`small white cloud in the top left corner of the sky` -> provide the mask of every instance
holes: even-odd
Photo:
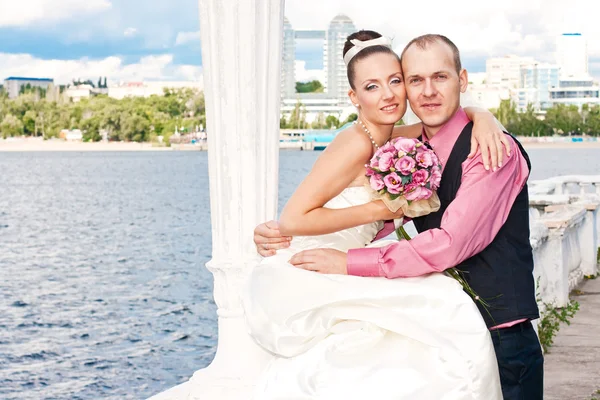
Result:
[[[0,0],[0,3],[0,27],[56,22],[100,13],[112,7],[110,0]]]

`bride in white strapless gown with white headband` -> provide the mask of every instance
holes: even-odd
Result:
[[[288,263],[305,249],[384,245],[371,244],[382,221],[402,217],[371,201],[365,178],[393,133],[421,133],[420,125],[394,130],[407,106],[399,58],[387,39],[360,31],[348,37],[344,61],[358,123],[337,135],[290,198],[279,229],[293,240],[262,249],[273,256],[250,272],[241,295],[251,336],[272,354],[254,399],[501,399],[490,333],[452,278],[322,275]],[[497,131],[489,112],[466,111],[480,137],[494,137],[481,136]]]

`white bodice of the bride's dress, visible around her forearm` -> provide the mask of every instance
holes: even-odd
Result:
[[[324,207],[340,209],[358,206],[371,201],[370,189],[366,186],[353,186],[344,189],[339,195],[327,202]],[[348,228],[343,231],[319,236],[298,236],[291,242],[290,250],[298,252],[307,249],[331,248],[340,251],[364,247],[371,243],[383,228],[383,222]]]

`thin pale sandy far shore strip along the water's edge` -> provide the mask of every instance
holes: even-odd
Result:
[[[532,149],[600,149],[600,141],[597,142],[537,142],[530,141],[530,138],[522,139],[525,148]],[[300,150],[298,146],[292,148],[286,143],[281,144],[282,149]],[[181,144],[171,147],[159,146],[155,143],[136,143],[136,142],[67,142],[65,140],[40,140],[40,139],[22,139],[22,140],[1,140],[0,152],[14,151],[179,151],[179,150],[207,150],[206,143],[202,144]]]

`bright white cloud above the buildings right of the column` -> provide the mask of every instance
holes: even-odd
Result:
[[[530,55],[554,61],[556,37],[580,32],[590,56],[600,56],[596,0],[287,0],[285,15],[294,29],[326,30],[337,14],[346,14],[357,29],[372,29],[394,38],[402,50],[413,37],[441,33],[463,56]],[[314,10],[319,12],[315,13]]]

